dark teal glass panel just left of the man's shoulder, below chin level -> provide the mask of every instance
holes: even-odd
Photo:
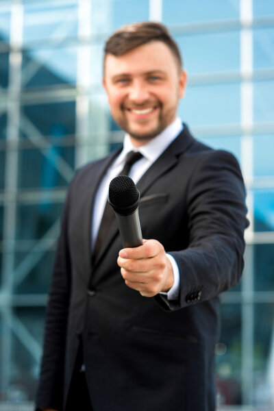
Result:
[[[74,153],[74,147],[56,145],[19,151],[18,188],[67,186],[74,174]]]

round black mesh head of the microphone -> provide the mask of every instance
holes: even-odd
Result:
[[[108,202],[122,216],[132,214],[140,199],[140,192],[128,175],[119,175],[110,182]]]

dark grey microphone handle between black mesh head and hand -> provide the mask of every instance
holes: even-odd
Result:
[[[138,208],[128,216],[122,216],[117,212],[114,213],[118,222],[123,248],[142,245],[142,230]]]

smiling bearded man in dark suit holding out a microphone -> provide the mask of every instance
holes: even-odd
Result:
[[[186,72],[163,25],[113,34],[103,86],[125,140],[79,170],[69,188],[37,407],[212,411],[218,295],[240,279],[245,248],[238,163],[177,119]],[[114,221],[97,250],[108,185],[129,151],[142,154],[129,176],[146,240],[121,249]]]

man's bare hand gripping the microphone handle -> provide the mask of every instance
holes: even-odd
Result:
[[[144,297],[154,297],[173,286],[171,262],[157,240],[144,240],[140,247],[121,250],[117,263],[125,284]]]

